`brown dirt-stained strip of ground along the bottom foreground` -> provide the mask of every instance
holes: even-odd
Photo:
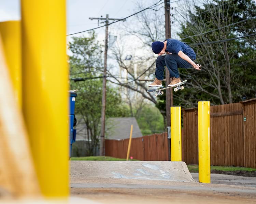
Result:
[[[118,188],[71,188],[71,195],[87,198],[100,203],[196,203],[236,204],[256,203],[248,194],[179,191],[169,189],[118,189]]]

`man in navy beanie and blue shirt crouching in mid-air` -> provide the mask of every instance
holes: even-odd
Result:
[[[155,41],[151,45],[152,50],[159,56],[156,59],[156,78],[155,81],[148,85],[151,87],[162,86],[163,71],[167,66],[170,72],[171,83],[168,86],[178,86],[181,84],[178,67],[191,68],[200,70],[201,65],[196,64],[196,53],[187,44],[180,40],[166,39],[163,42]],[[162,55],[165,54],[166,55]]]

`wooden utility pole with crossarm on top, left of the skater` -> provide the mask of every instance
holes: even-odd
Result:
[[[102,82],[102,101],[101,101],[101,129],[100,129],[100,156],[105,155],[105,112],[106,112],[106,68],[107,68],[107,52],[108,52],[108,29],[109,20],[122,20],[118,18],[109,18],[109,14],[106,18],[89,18],[90,20],[104,20],[106,25],[105,31],[105,51],[104,51],[104,70],[103,70],[103,82]],[[123,20],[125,21],[125,19]]]

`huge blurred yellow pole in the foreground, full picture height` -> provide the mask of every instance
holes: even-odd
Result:
[[[67,198],[68,66],[66,1],[22,0],[23,112],[39,184]]]

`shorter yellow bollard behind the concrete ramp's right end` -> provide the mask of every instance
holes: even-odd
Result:
[[[181,161],[181,107],[171,107],[171,161]]]

